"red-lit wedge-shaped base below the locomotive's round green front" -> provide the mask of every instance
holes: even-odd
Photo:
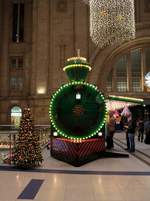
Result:
[[[74,166],[81,166],[91,160],[97,159],[99,153],[105,151],[104,137],[75,142],[65,138],[53,138],[51,155],[59,160]]]

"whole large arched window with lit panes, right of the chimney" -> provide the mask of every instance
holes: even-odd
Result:
[[[150,47],[129,50],[114,63],[107,77],[107,91],[142,92],[145,90],[144,75],[149,71]]]

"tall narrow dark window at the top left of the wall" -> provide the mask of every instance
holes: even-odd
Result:
[[[23,1],[13,1],[12,6],[12,41],[23,42],[24,40],[24,3]]]

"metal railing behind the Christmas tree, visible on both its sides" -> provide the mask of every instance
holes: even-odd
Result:
[[[43,149],[50,138],[49,125],[35,125],[34,132],[39,136]],[[19,129],[12,125],[0,125],[0,164],[11,164],[13,148],[16,144]]]

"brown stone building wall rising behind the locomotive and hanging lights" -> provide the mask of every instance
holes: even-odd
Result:
[[[97,48],[89,36],[89,8],[82,0],[25,0],[25,40],[12,43],[11,0],[0,1],[0,123],[10,123],[14,105],[32,109],[35,124],[49,124],[52,93],[67,82],[62,71],[65,60],[81,55],[92,64],[89,81],[105,90],[111,62],[123,49],[150,35],[149,1],[136,1],[137,40],[123,47]],[[140,41],[141,41],[140,40]],[[143,43],[145,43],[143,41]],[[24,90],[9,93],[9,57],[24,57]],[[104,70],[105,69],[105,70]],[[131,94],[132,95],[132,94]]]

